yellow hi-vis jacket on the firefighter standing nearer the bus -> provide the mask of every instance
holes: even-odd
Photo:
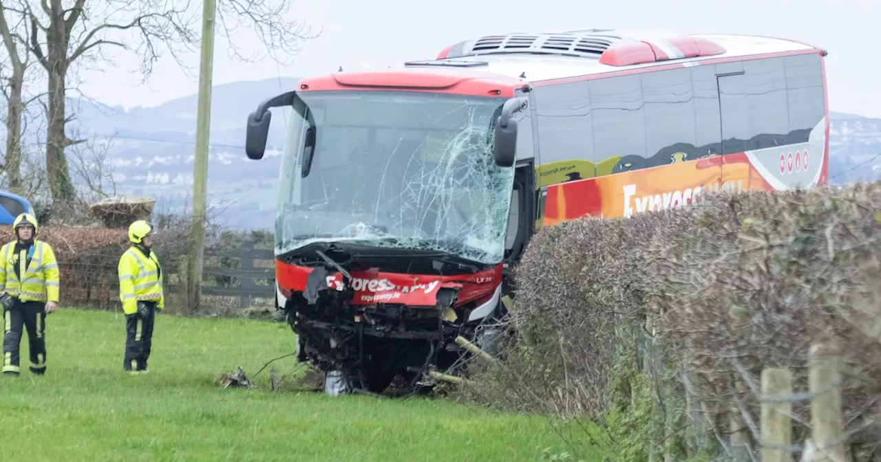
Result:
[[[119,298],[125,314],[137,312],[138,300],[156,302],[160,310],[165,307],[161,268],[155,252],[147,257],[131,246],[122,253],[119,258]]]

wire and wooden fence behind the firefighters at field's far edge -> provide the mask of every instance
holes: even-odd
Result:
[[[160,230],[153,251],[159,258],[167,312],[194,315],[233,315],[272,312],[275,264],[271,235],[223,231],[206,239],[202,300],[197,312],[187,304],[189,230]],[[0,238],[5,238],[0,233]],[[63,306],[121,310],[118,263],[128,248],[125,230],[71,228],[41,230],[53,246],[61,274]],[[5,241],[11,241],[9,238]]]

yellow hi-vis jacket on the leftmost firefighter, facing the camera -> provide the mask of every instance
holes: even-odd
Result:
[[[34,239],[30,249],[15,254],[16,242],[8,242],[0,247],[0,258],[3,258],[0,290],[19,297],[22,302],[58,303],[58,262],[52,246]],[[28,253],[31,253],[31,262],[25,268]],[[20,279],[15,274],[16,265],[19,266]]]

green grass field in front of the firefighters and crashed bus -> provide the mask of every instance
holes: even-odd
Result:
[[[122,372],[122,313],[48,315],[48,372],[0,376],[0,460],[541,460],[570,451],[544,417],[442,400],[223,389],[223,371],[254,375],[294,351],[284,324],[159,315],[151,372]],[[273,363],[290,374],[288,357]],[[600,460],[581,454],[581,458]]]

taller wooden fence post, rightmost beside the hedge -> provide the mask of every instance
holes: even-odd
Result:
[[[841,392],[838,346],[835,343],[814,343],[808,354],[811,387],[811,439],[817,446],[815,462],[848,460],[841,423]]]

